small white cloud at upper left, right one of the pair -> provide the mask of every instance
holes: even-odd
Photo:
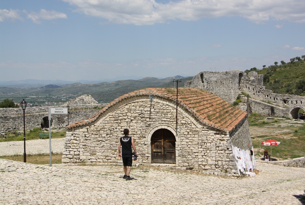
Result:
[[[39,13],[31,12],[27,15],[27,18],[32,19],[34,23],[40,23],[39,19],[66,19],[67,15],[56,11],[47,11],[45,9],[41,9]]]

